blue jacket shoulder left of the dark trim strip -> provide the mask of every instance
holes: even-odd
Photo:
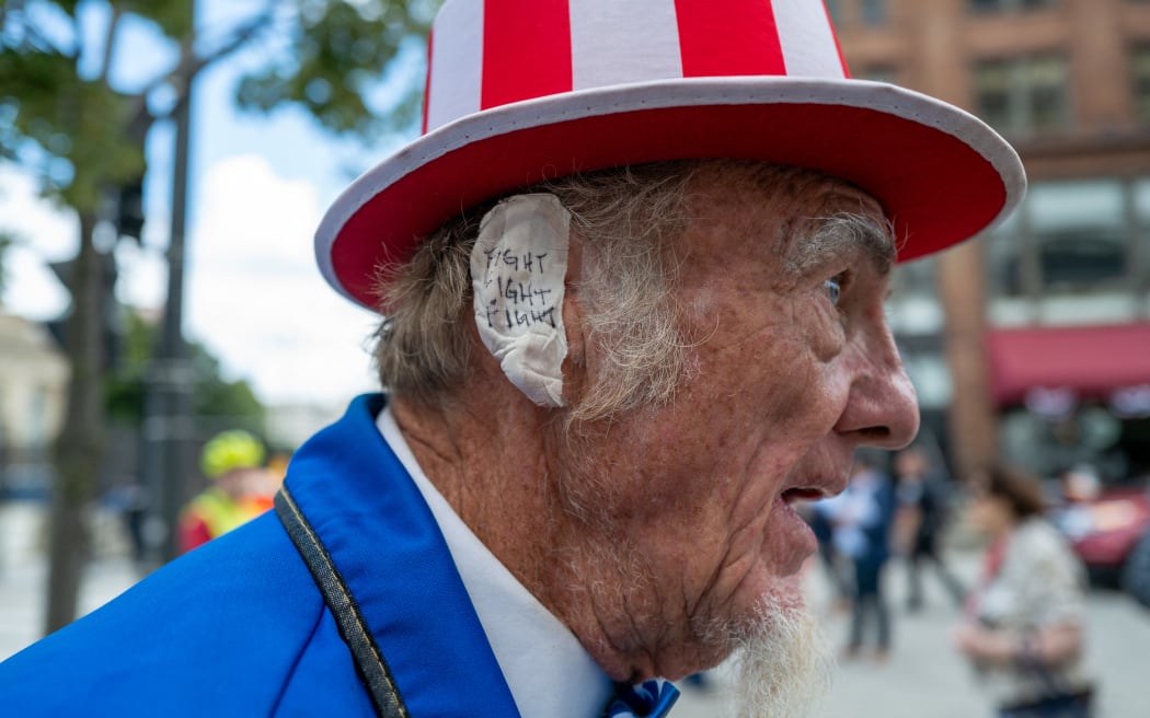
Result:
[[[24,717],[307,715],[308,686],[322,681],[325,711],[370,715],[346,654],[268,514],[0,664],[0,705]]]

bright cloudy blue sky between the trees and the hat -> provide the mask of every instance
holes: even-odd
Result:
[[[343,404],[374,387],[365,347],[375,319],[320,277],[312,234],[353,173],[406,138],[362,147],[325,137],[292,110],[237,114],[231,87],[245,62],[254,61],[237,56],[206,72],[195,88],[185,331],[222,360],[229,378],[250,380],[266,403]],[[143,308],[162,306],[166,295],[170,146],[170,132],[153,131],[144,249],[120,250],[117,293]],[[68,298],[46,263],[75,255],[75,219],[37,199],[29,177],[0,164],[0,229],[23,240],[5,258],[3,310],[54,318]]]

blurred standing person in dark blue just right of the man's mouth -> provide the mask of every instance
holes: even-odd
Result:
[[[874,657],[890,654],[890,607],[883,594],[883,569],[890,558],[895,522],[895,489],[879,468],[877,457],[858,451],[850,485],[833,500],[834,542],[854,568],[851,594],[851,628],[845,657],[858,656],[867,626],[874,624]]]

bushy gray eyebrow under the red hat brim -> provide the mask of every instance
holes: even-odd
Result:
[[[837,213],[816,217],[805,237],[790,241],[785,253],[787,271],[805,275],[825,263],[828,257],[862,254],[881,277],[890,273],[897,257],[894,229],[889,222],[858,213]]]

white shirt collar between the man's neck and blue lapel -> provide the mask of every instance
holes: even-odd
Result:
[[[611,697],[611,679],[578,639],[519,582],[423,473],[391,412],[376,426],[415,479],[447,542],[491,650],[523,718],[590,718]]]

